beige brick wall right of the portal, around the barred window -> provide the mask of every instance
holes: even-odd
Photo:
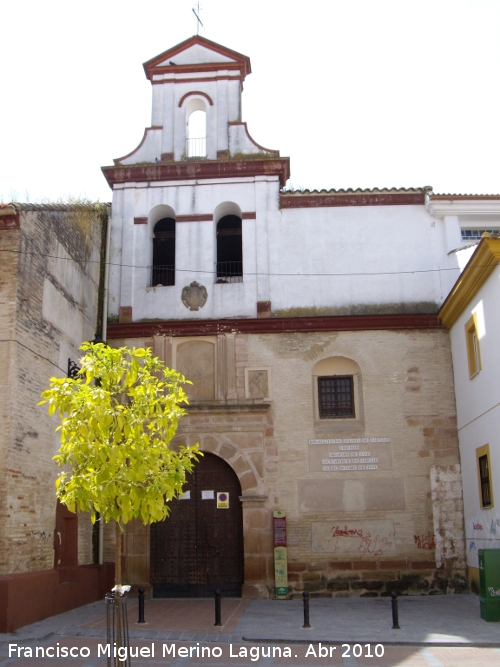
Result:
[[[248,364],[272,368],[278,462],[273,501],[287,515],[291,594],[463,591],[463,509],[447,332],[292,333],[254,335],[247,342]],[[339,356],[360,368],[356,417],[363,427],[350,430],[349,420],[331,420],[328,433],[329,420],[320,424],[314,414],[313,370],[319,361]],[[318,463],[342,446],[310,444],[326,440],[360,442],[376,454],[379,469],[322,470]]]

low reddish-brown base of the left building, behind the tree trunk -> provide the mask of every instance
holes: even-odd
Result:
[[[114,563],[0,577],[0,632],[103,599],[114,585]]]

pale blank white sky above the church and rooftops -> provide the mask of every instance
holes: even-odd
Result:
[[[243,120],[295,188],[500,193],[500,0],[200,0],[250,57]],[[111,201],[151,120],[142,63],[194,0],[0,0],[0,201]]]

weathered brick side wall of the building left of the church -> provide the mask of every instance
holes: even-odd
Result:
[[[57,422],[37,403],[49,378],[66,375],[68,357],[77,359],[81,342],[94,337],[102,219],[93,207],[28,207],[18,233],[17,275],[8,276],[16,296],[9,311],[11,429],[2,462],[0,574],[53,566]],[[2,276],[4,270],[2,258]],[[3,322],[5,304],[0,308]],[[90,562],[88,546],[80,555]]]

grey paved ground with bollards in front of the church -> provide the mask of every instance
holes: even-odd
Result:
[[[213,600],[147,600],[146,623],[137,616],[131,600],[134,667],[500,667],[500,623],[480,618],[473,595],[402,597],[400,630],[392,629],[391,601],[381,598],[313,598],[309,629],[301,600],[223,599],[220,628]],[[106,650],[99,602],[0,634],[0,667],[100,667]]]

